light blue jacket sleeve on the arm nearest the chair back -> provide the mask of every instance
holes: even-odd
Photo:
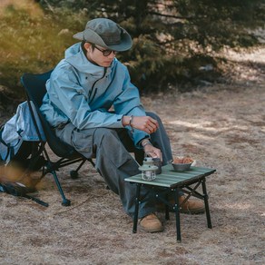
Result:
[[[92,110],[87,94],[71,69],[54,71],[47,84],[50,103],[80,130],[96,127],[122,128],[123,114]]]

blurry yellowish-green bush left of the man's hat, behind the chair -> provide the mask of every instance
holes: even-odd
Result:
[[[23,73],[44,72],[62,59],[86,18],[82,12],[31,15],[26,9],[6,7],[0,25],[0,83],[10,88],[10,96],[24,97],[19,81]]]

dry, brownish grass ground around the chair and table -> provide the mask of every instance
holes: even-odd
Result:
[[[205,215],[181,215],[161,233],[132,233],[119,198],[89,163],[72,180],[58,172],[70,207],[47,176],[37,197],[0,194],[0,264],[264,264],[265,50],[228,56],[234,82],[191,93],[142,98],[158,113],[175,155],[217,170],[207,179],[212,229]],[[231,74],[231,73],[230,73]]]

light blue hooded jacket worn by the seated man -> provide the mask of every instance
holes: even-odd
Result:
[[[92,64],[83,54],[81,43],[65,51],[46,89],[41,111],[54,127],[70,122],[79,130],[123,128],[123,115],[146,115],[126,66],[116,58],[107,68]],[[111,107],[113,113],[109,112]],[[147,136],[139,130],[131,134],[135,146]]]

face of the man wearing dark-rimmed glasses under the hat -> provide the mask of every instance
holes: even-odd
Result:
[[[113,59],[116,56],[114,51],[106,50],[105,48],[98,45],[92,47],[91,44],[86,43],[84,44],[84,48],[87,51],[86,53],[87,59],[92,63],[98,64],[102,67],[111,66],[111,64],[113,63]]]

